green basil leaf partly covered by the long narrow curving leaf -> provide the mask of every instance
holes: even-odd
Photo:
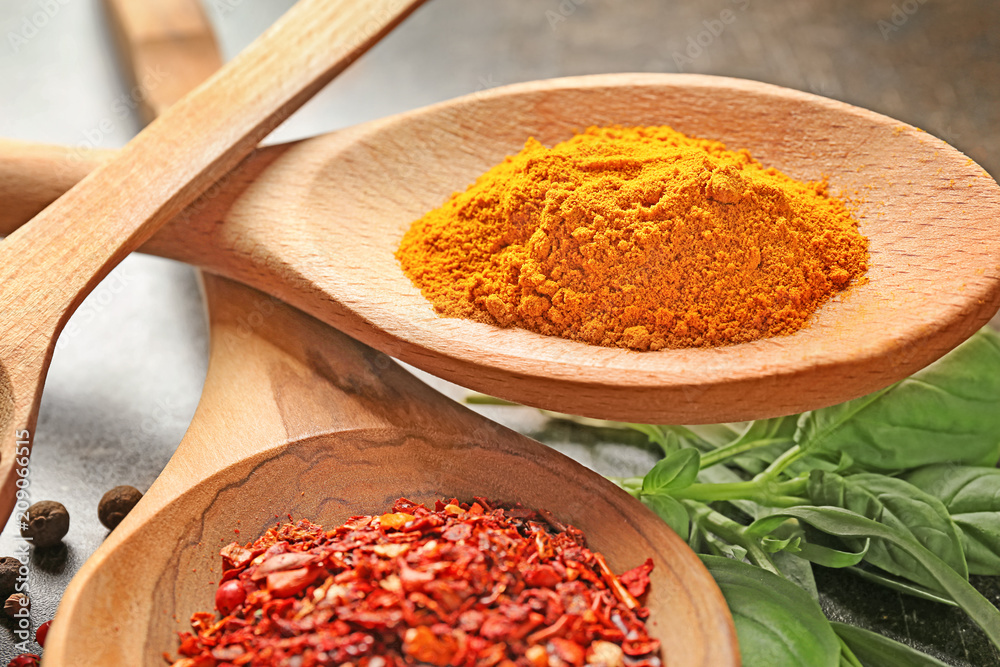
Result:
[[[809,475],[807,493],[817,505],[843,507],[910,535],[963,578],[969,577],[962,537],[948,510],[940,500],[912,484],[874,473],[841,477],[816,470]],[[848,540],[848,544],[861,548],[857,540]],[[908,550],[892,542],[874,540],[865,560],[916,583],[934,584],[933,576]]]

